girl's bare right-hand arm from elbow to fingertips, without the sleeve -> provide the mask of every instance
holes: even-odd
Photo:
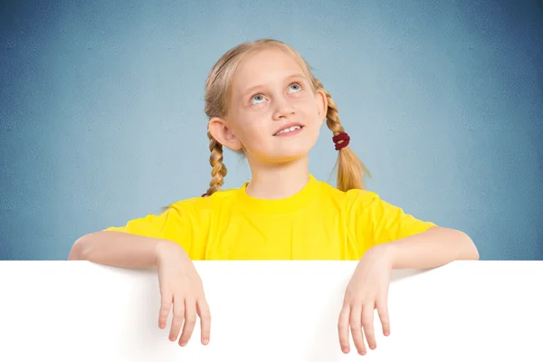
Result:
[[[348,283],[343,308],[339,314],[339,343],[348,353],[348,329],[358,353],[366,354],[364,335],[369,348],[376,348],[374,310],[377,310],[385,336],[390,334],[388,319],[388,285],[393,269],[427,269],[455,260],[477,260],[479,252],[472,239],[457,230],[432,226],[369,248],[358,262]],[[364,330],[364,334],[362,333]]]

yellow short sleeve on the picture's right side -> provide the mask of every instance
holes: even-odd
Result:
[[[429,221],[419,220],[406,214],[398,206],[382,200],[371,191],[357,190],[352,199],[351,221],[357,240],[368,249],[379,243],[388,243],[416,233],[423,233],[433,226]]]

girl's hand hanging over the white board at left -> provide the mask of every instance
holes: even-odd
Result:
[[[166,328],[167,316],[173,303],[174,317],[169,340],[176,341],[183,326],[179,346],[186,346],[195,328],[197,313],[201,321],[201,342],[206,345],[209,343],[211,315],[205,300],[202,280],[180,245],[166,242],[158,249],[157,268],[161,296],[158,327]]]

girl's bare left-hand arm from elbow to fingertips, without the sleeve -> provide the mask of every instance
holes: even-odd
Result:
[[[211,315],[203,283],[184,248],[172,241],[138,234],[101,231],[76,241],[68,260],[87,260],[126,268],[157,267],[160,291],[158,327],[166,329],[173,312],[169,340],[185,346],[193,333],[196,315],[201,319],[201,340],[209,342]]]

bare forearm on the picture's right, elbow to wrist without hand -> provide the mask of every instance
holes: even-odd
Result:
[[[381,245],[386,247],[393,269],[426,269],[456,260],[479,259],[467,234],[443,227]]]

